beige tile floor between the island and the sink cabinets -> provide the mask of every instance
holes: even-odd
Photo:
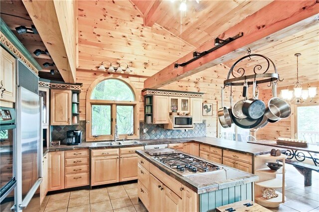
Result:
[[[41,212],[147,212],[137,183],[47,195]]]

